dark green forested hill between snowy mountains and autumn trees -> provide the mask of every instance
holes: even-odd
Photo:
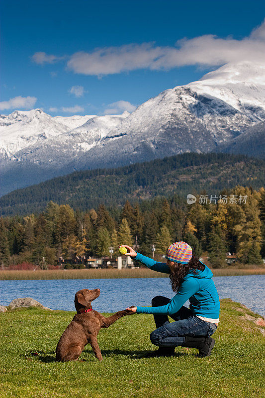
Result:
[[[265,161],[245,155],[185,153],[116,169],[75,172],[11,192],[0,198],[0,215],[29,214],[50,200],[87,210],[99,204],[123,205],[156,196],[205,191],[216,195],[237,185],[265,185]]]

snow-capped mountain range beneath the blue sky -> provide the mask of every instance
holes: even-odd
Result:
[[[237,137],[248,129],[255,135],[264,121],[265,65],[251,62],[227,64],[166,90],[131,114],[14,111],[0,116],[1,193],[74,170],[229,147],[245,142]]]

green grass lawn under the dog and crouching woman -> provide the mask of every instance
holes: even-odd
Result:
[[[239,308],[239,309],[237,309]],[[239,303],[221,300],[212,355],[176,348],[171,358],[148,358],[152,315],[131,315],[101,329],[103,361],[90,346],[86,362],[55,362],[57,342],[74,312],[16,309],[0,313],[0,397],[208,398],[264,396],[264,336]],[[256,314],[257,316],[257,314]],[[38,352],[32,356],[31,352]]]

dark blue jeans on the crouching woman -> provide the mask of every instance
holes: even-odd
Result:
[[[156,296],[152,299],[152,307],[167,305],[170,299]],[[193,315],[191,310],[182,306],[176,314],[171,315],[175,322],[169,321],[167,314],[154,314],[157,329],[150,334],[150,340],[159,347],[177,347],[185,341],[185,336],[210,337],[217,326]]]

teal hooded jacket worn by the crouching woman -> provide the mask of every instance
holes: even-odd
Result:
[[[149,257],[137,253],[135,260],[140,261],[151,270],[170,274],[170,269],[165,263],[159,263]],[[189,308],[194,315],[205,318],[219,318],[220,301],[219,296],[212,280],[212,271],[204,265],[203,271],[196,270],[189,272],[184,278],[178,289],[177,294],[167,305],[160,307],[137,307],[137,313],[146,314],[175,314],[182,305],[189,299]]]

